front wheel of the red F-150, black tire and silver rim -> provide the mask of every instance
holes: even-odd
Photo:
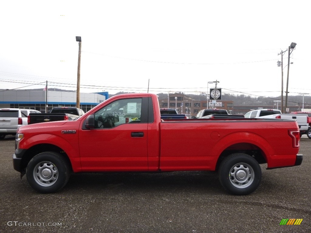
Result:
[[[55,152],[43,152],[32,158],[27,166],[26,177],[30,186],[40,193],[61,190],[70,176],[66,160]]]

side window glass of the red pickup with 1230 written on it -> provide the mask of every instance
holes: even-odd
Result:
[[[95,128],[107,129],[127,123],[140,123],[142,98],[119,99],[95,112]]]

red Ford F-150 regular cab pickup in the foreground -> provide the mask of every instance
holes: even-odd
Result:
[[[62,189],[71,172],[205,170],[218,171],[229,193],[245,195],[259,186],[259,164],[300,165],[299,141],[295,120],[163,120],[155,94],[122,94],[75,121],[22,126],[13,166],[41,193]]]

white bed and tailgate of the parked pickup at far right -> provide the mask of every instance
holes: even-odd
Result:
[[[286,119],[286,120],[296,120],[300,129],[300,137],[303,134],[306,134],[309,129],[309,117],[308,115],[300,115],[300,114],[273,114],[263,117],[256,118],[275,118],[275,119]]]

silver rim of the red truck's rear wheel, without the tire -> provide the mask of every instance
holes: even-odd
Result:
[[[237,163],[231,167],[229,178],[236,188],[246,188],[254,181],[254,170],[247,163]]]

